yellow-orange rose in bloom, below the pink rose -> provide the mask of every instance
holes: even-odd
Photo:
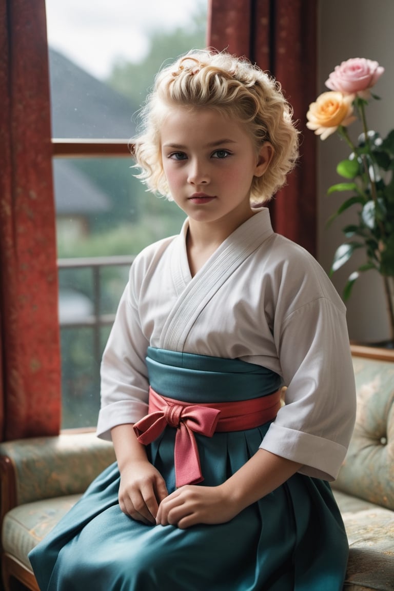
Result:
[[[328,138],[338,129],[347,127],[356,121],[353,116],[354,95],[343,95],[341,92],[323,92],[315,103],[311,103],[307,112],[307,128],[312,129],[321,139]]]

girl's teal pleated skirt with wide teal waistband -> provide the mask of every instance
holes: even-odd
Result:
[[[246,400],[280,387],[278,375],[238,360],[148,349],[152,388],[188,402]],[[204,481],[216,486],[256,453],[269,424],[196,435]],[[175,489],[175,429],[148,446]],[[220,525],[144,525],[118,504],[109,466],[29,558],[41,591],[341,591],[348,543],[330,485],[295,474]]]

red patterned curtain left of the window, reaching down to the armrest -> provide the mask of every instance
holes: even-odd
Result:
[[[60,428],[44,0],[2,0],[0,44],[0,437],[10,440]]]

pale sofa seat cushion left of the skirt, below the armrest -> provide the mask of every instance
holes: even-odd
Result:
[[[8,511],[2,527],[3,550],[31,568],[28,553],[48,534],[81,495],[61,496],[19,505]]]

